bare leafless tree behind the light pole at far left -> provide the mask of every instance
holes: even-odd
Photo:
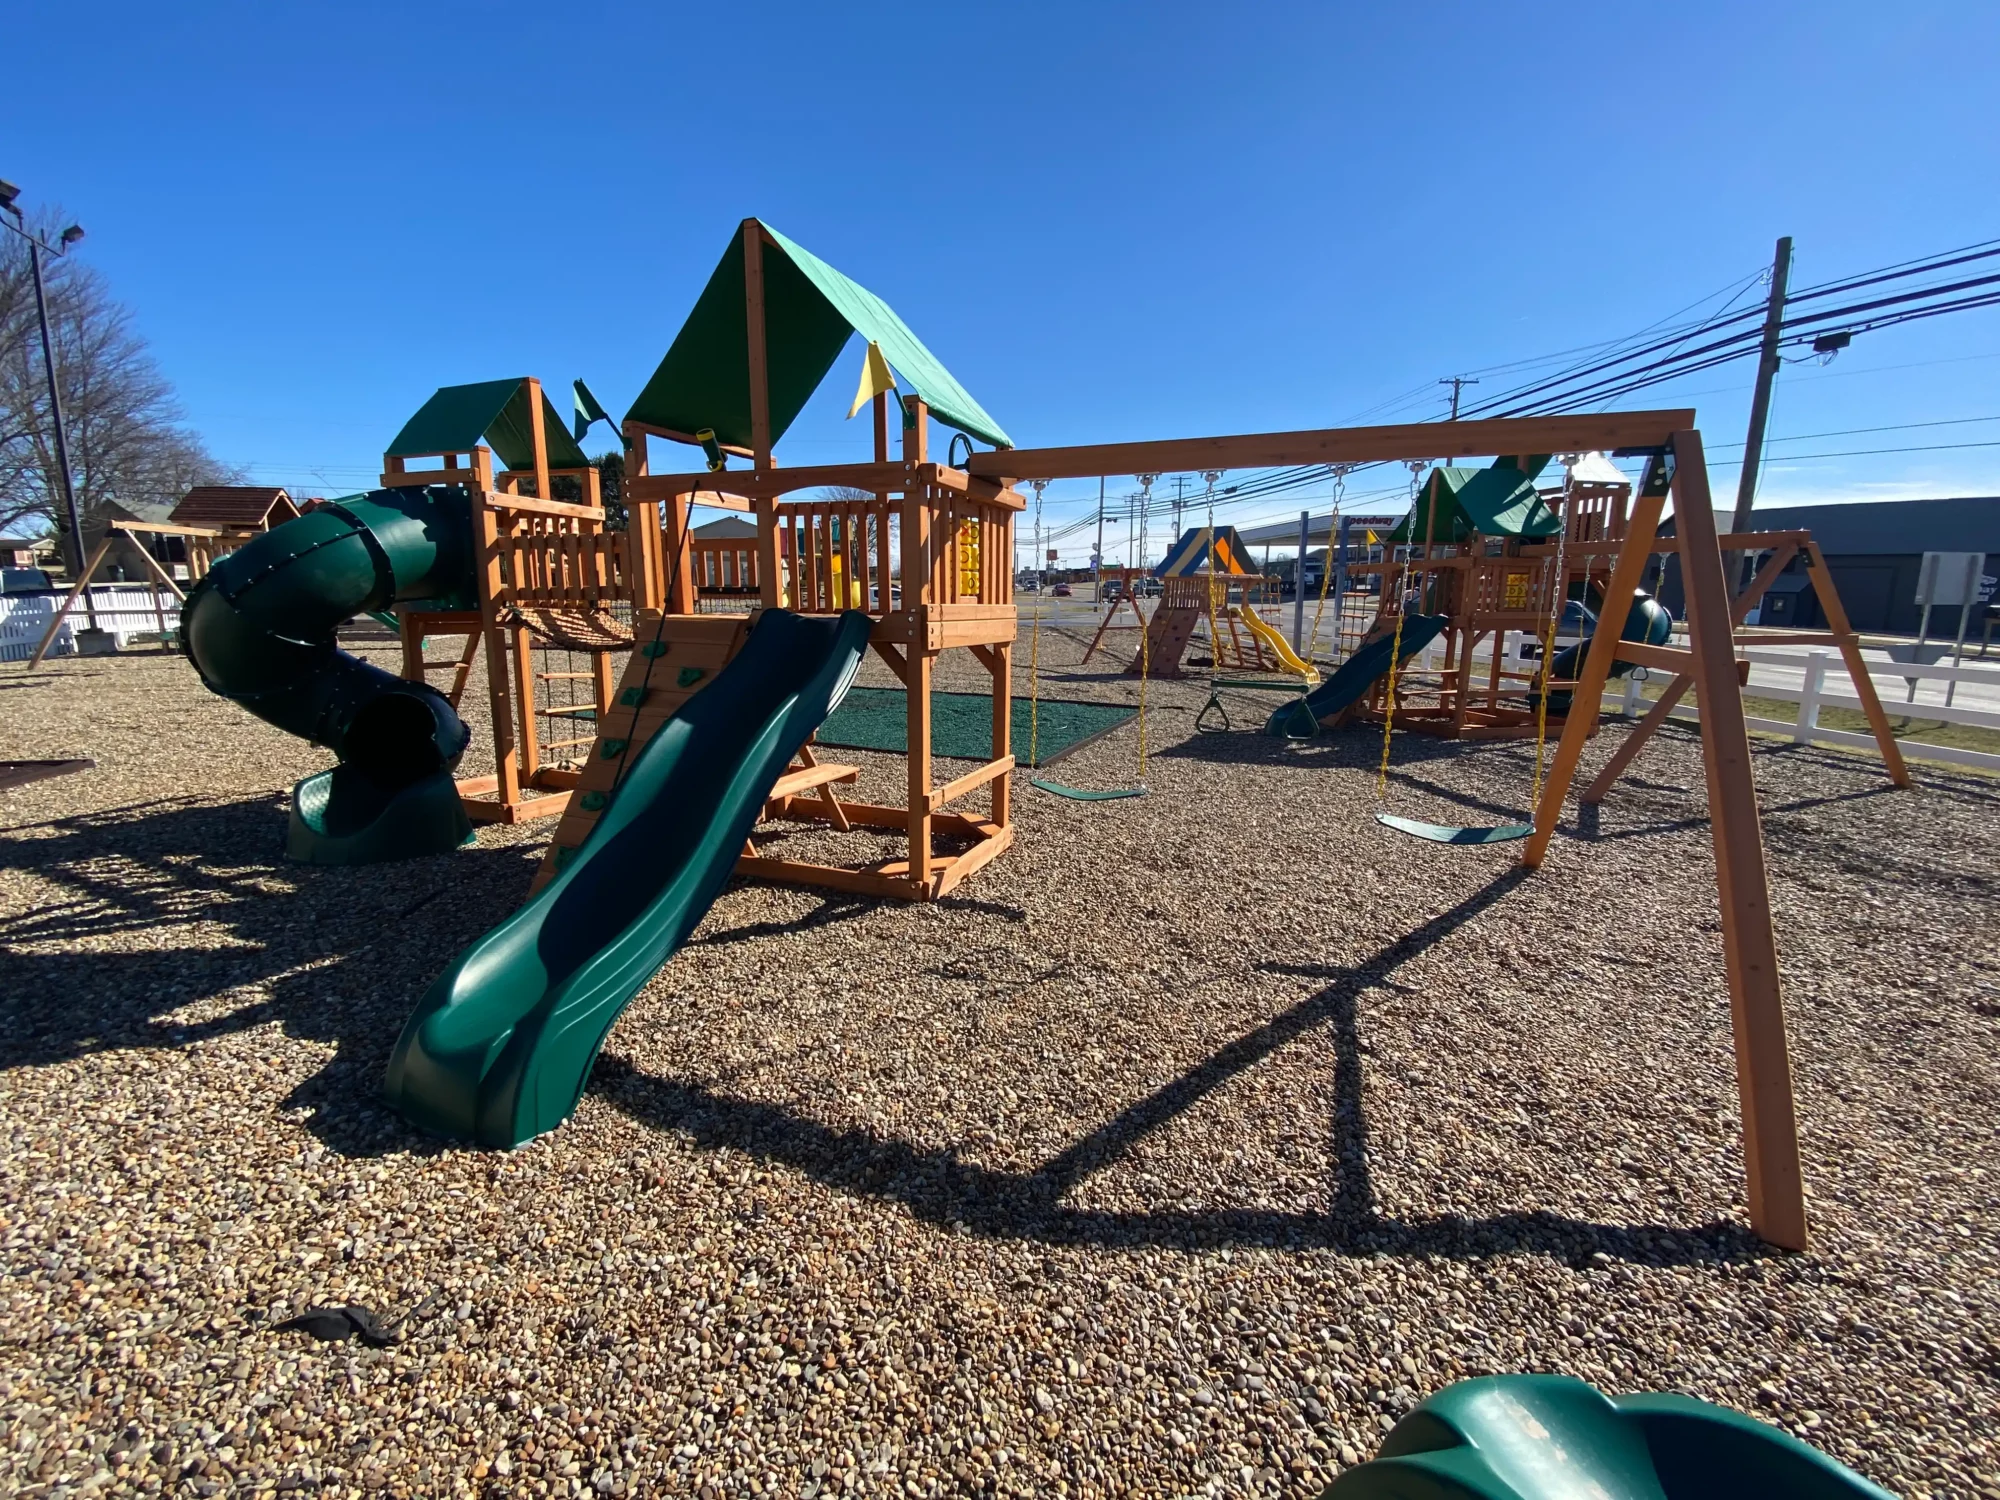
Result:
[[[54,242],[60,216],[28,228]],[[70,256],[42,256],[56,384],[70,438],[70,478],[88,526],[106,502],[174,504],[196,484],[240,484],[246,476],[214,458],[184,426],[132,312],[104,278]],[[62,530],[56,426],[42,370],[28,244],[0,234],[0,532]]]

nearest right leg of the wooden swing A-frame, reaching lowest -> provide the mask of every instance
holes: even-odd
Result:
[[[1728,970],[1736,1030],[1736,1090],[1742,1098],[1744,1162],[1750,1172],[1750,1226],[1770,1244],[1804,1250],[1806,1184],[1798,1164],[1792,1060],[1784,1036],[1784,998],[1778,990],[1778,938],[1770,916],[1770,878],[1764,870],[1764,828],[1758,820],[1750,728],[1744,722],[1736,644],[1728,624],[1730,588],[1722,576],[1702,436],[1676,432],[1672,452],[1674,534],[1680,542],[1680,578],[1688,600],[1694,686],[1702,702],[1708,824],[1714,834],[1716,884],[1722,894],[1722,962]],[[1620,564],[1624,564],[1622,554]],[[1614,570],[1614,584],[1616,578]],[[1614,588],[1606,594],[1606,606],[1616,602],[1616,608],[1624,610],[1628,598],[1626,590]]]

